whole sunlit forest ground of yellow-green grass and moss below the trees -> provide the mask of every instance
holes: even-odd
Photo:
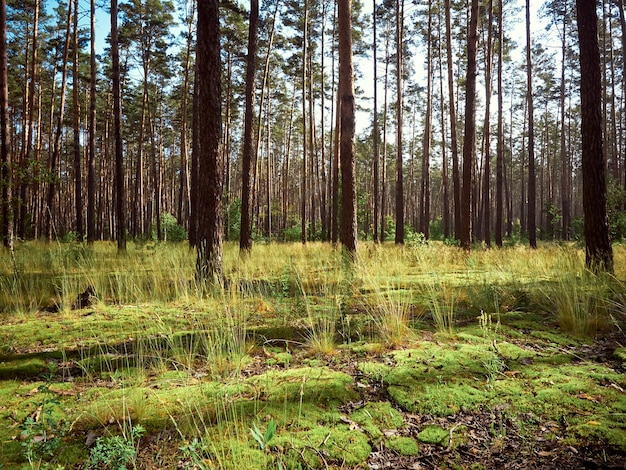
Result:
[[[206,295],[186,243],[17,244],[0,468],[623,468],[614,254],[227,243]]]

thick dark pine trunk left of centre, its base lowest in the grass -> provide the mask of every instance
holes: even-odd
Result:
[[[198,2],[193,151],[198,164],[196,275],[223,284],[220,24],[218,0]]]

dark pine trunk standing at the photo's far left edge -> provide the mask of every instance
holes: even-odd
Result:
[[[0,0],[0,164],[2,185],[2,242],[13,250],[11,215],[11,154],[9,142],[9,80],[7,74],[7,4]]]

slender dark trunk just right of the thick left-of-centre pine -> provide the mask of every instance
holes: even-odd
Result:
[[[246,109],[243,134],[243,170],[241,187],[241,230],[239,252],[249,255],[252,251],[252,207],[254,204],[254,182],[256,173],[257,147],[254,139],[254,100],[256,90],[256,56],[259,43],[259,2],[250,2],[248,25],[248,59],[246,63]],[[260,113],[259,113],[260,114]],[[259,129],[259,132],[261,130]],[[268,175],[269,176],[269,175]]]

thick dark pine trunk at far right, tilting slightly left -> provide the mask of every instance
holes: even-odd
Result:
[[[587,268],[613,273],[607,218],[606,168],[602,143],[602,77],[595,0],[576,0],[580,48],[583,209]]]

